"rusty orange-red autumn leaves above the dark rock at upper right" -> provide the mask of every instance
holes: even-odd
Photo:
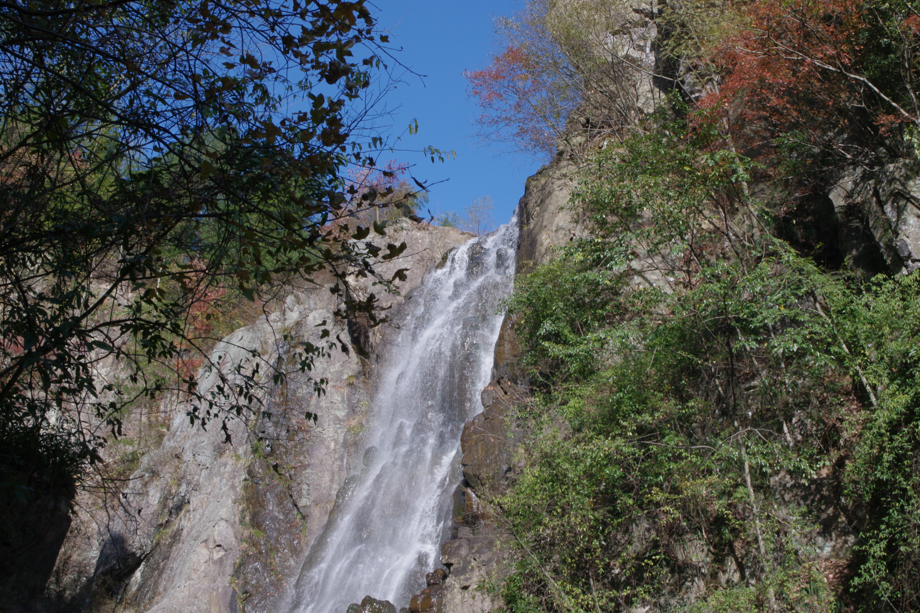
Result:
[[[896,97],[903,84],[884,64],[888,26],[872,3],[759,0],[745,15],[746,26],[712,50],[723,78],[701,101],[740,142],[762,146],[794,133],[811,149],[843,153],[834,139],[868,142],[891,123],[895,103],[882,90]],[[900,29],[913,37],[911,24]]]

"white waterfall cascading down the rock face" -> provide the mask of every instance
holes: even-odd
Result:
[[[517,233],[515,215],[464,244],[413,298],[378,371],[365,467],[346,481],[316,539],[292,613],[345,613],[363,596],[406,607],[440,562],[460,481],[460,434],[482,410]]]

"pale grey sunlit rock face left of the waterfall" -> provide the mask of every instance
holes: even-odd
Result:
[[[405,255],[381,268],[385,275],[409,268],[401,295],[379,296],[398,324],[411,289],[470,235],[408,221],[387,233],[387,240],[408,244]],[[366,285],[359,291],[372,290]],[[296,342],[318,344],[315,326],[335,321],[339,301],[325,289],[292,291],[279,309],[224,338],[213,354],[224,355],[224,363],[253,364],[274,362]],[[328,380],[322,396],[295,374],[260,399],[265,416],[232,420],[225,432],[219,422],[206,430],[190,426],[181,403],[162,403],[158,412],[168,419],[162,445],[144,455],[122,491],[77,495],[43,608],[273,610],[355,461],[379,349],[390,334],[388,324],[369,331],[336,325],[332,337],[362,335],[371,356],[337,351],[317,360],[306,374]],[[201,385],[213,383],[212,376]],[[318,415],[316,423],[307,412]]]

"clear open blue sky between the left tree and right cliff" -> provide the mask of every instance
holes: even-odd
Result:
[[[386,94],[385,106],[397,108],[388,130],[402,135],[398,148],[420,150],[432,145],[454,150],[455,159],[431,164],[421,153],[393,153],[400,162],[415,164],[412,175],[426,181],[450,180],[431,188],[431,211],[462,211],[474,199],[491,196],[495,221],[508,221],[523,196],[523,183],[539,163],[500,155],[495,147],[477,142],[473,120],[476,102],[466,96],[465,70],[489,63],[497,37],[493,18],[522,8],[515,0],[373,0],[378,28],[390,30],[390,46],[400,62],[426,76],[407,74],[405,83]],[[406,128],[419,120],[419,133]],[[386,156],[384,156],[386,157]],[[381,162],[385,159],[381,158]]]

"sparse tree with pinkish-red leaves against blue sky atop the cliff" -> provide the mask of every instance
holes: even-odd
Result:
[[[557,148],[581,157],[588,142],[621,140],[657,96],[659,12],[655,2],[532,0],[500,19],[504,50],[466,73],[482,108],[479,135],[537,159]]]

